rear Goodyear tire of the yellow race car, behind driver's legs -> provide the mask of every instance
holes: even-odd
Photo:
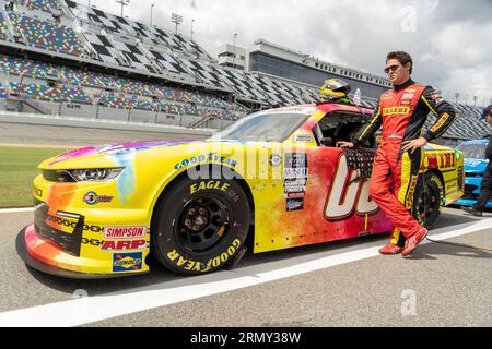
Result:
[[[432,228],[443,208],[444,185],[436,173],[425,173],[417,184],[413,216],[425,228]]]

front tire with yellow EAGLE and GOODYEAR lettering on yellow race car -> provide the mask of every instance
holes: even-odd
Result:
[[[250,207],[233,180],[178,182],[156,207],[152,250],[169,270],[201,275],[232,262],[246,241]]]

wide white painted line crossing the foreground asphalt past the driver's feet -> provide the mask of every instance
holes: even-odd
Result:
[[[491,229],[492,218],[433,231],[433,240],[446,240]],[[423,242],[429,243],[429,242]],[[288,277],[303,275],[355,261],[378,256],[378,246],[339,253],[314,253],[270,262],[232,272],[219,272],[194,278],[167,281],[149,287],[85,297],[70,301],[0,313],[0,327],[70,327],[176,304],[198,298],[234,291]],[[409,263],[412,263],[409,261]]]

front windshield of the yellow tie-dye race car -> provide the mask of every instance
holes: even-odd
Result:
[[[215,133],[211,140],[284,142],[308,117],[306,112],[260,111]]]

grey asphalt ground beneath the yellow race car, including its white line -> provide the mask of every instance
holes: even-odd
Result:
[[[71,144],[89,144],[84,136],[78,130]],[[16,234],[32,220],[32,212],[0,212],[0,326],[492,325],[492,253],[484,251],[424,243],[403,260],[378,255],[387,236],[375,236],[247,253],[236,269],[200,277],[176,276],[154,261],[148,275],[70,280],[16,255]],[[432,237],[492,249],[492,214],[445,208]]]

